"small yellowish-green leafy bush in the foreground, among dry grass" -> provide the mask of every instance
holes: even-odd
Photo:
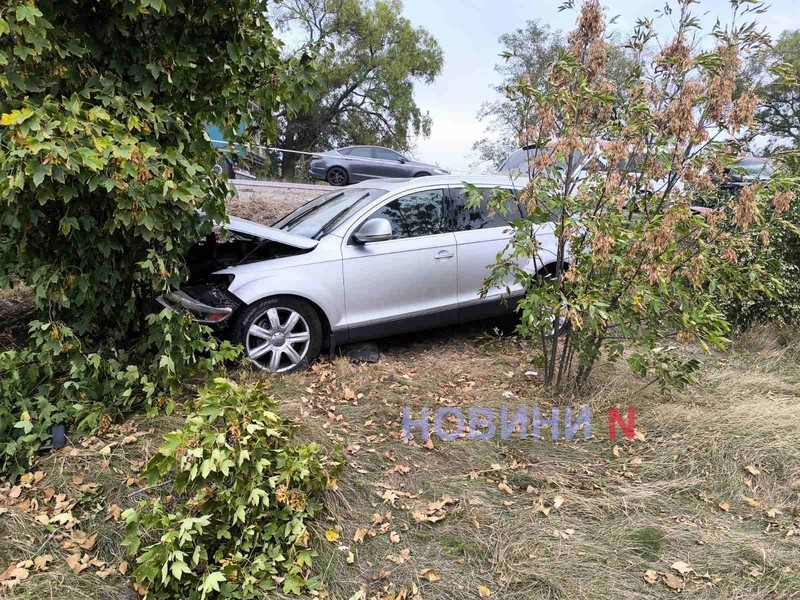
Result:
[[[316,444],[292,441],[294,427],[263,385],[216,379],[183,429],[165,436],[144,471],[175,495],[124,513],[125,546],[138,555],[133,578],[147,598],[262,598],[319,586],[308,521],[338,472]],[[152,544],[143,542],[158,535]]]

